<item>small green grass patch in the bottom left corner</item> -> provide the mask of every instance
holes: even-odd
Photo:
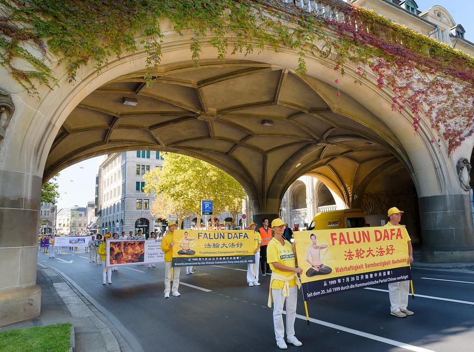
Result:
[[[0,332],[0,352],[67,352],[71,324]]]

